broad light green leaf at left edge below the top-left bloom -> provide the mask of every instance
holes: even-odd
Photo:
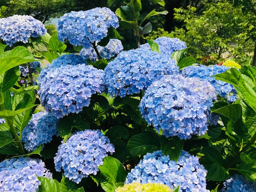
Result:
[[[25,47],[14,47],[10,51],[0,53],[0,74],[24,63],[36,61]]]

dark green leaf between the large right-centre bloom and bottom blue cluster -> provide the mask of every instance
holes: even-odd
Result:
[[[166,138],[160,136],[161,149],[164,155],[169,155],[171,160],[177,161],[180,157],[184,141],[177,136]]]

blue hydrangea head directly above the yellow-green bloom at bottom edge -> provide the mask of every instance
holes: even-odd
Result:
[[[173,161],[162,151],[147,153],[139,164],[128,173],[127,183],[162,183],[170,188],[180,185],[180,192],[207,192],[207,170],[198,157],[182,150],[178,161]]]

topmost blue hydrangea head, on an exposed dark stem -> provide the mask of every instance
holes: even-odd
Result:
[[[82,45],[89,49],[92,42],[100,42],[107,36],[108,28],[119,27],[118,18],[106,7],[88,11],[71,11],[59,18],[58,38],[68,40],[72,45]]]

